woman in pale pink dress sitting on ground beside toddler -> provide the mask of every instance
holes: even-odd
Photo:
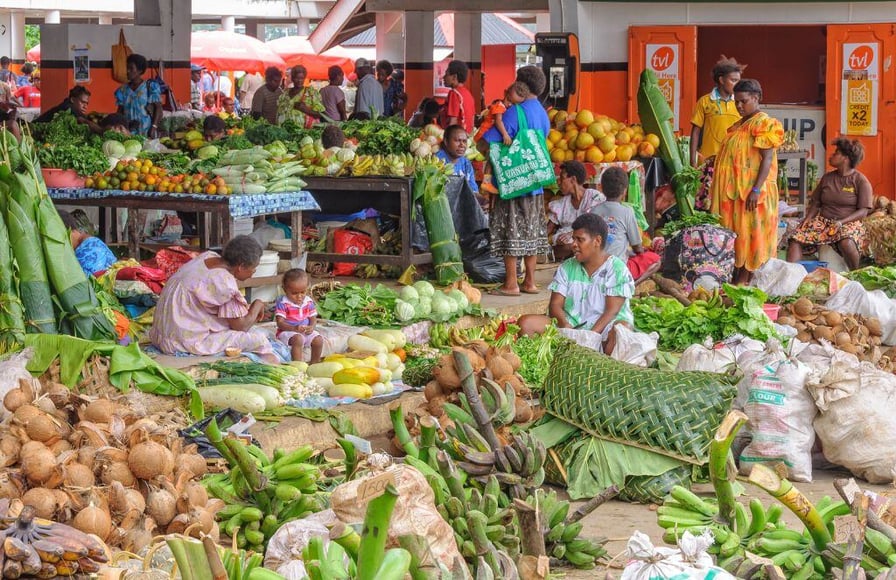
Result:
[[[186,263],[159,297],[149,331],[152,343],[170,355],[217,355],[233,347],[278,362],[267,335],[252,328],[264,313],[264,302],[248,304],[237,286],[255,273],[261,253],[253,238],[236,236],[220,256],[205,252]]]

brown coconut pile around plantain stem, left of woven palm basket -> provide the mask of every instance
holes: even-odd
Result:
[[[528,423],[535,416],[535,410],[527,400],[532,391],[517,372],[522,362],[510,347],[490,347],[483,340],[467,343],[465,347],[454,347],[467,355],[476,385],[486,406],[486,411],[502,418],[502,423]],[[445,403],[465,406],[461,401],[463,388],[461,377],[454,365],[453,352],[443,355],[432,369],[433,380],[426,384],[423,394],[426,403],[418,409],[418,415],[432,415],[439,424],[451,424],[446,415]],[[483,379],[494,381],[486,384]],[[495,392],[495,387],[502,393]],[[503,406],[503,409],[501,408]]]

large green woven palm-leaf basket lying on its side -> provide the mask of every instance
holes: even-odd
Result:
[[[562,341],[541,405],[595,437],[702,464],[736,392],[723,375],[645,369]]]

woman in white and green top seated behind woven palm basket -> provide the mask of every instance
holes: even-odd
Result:
[[[558,328],[590,330],[601,335],[605,353],[616,346],[616,324],[634,326],[631,298],[635,281],[625,262],[607,252],[607,222],[593,213],[572,223],[573,257],[563,262],[548,288],[548,316],[520,317],[523,335],[540,334],[553,320]]]

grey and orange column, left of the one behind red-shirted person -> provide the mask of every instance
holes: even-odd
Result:
[[[433,78],[432,11],[405,12],[404,14],[404,86],[408,93],[408,114],[417,110],[424,97],[435,93]]]

